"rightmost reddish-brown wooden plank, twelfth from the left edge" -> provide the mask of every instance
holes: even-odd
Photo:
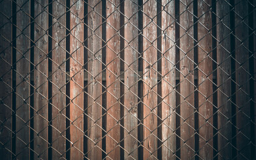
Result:
[[[199,156],[213,159],[213,53],[210,0],[199,0]]]

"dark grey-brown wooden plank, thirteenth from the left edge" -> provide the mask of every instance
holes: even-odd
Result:
[[[229,2],[229,1],[227,1]],[[217,96],[218,96],[218,151],[219,159],[231,159],[231,41],[230,6],[226,1],[217,1]]]

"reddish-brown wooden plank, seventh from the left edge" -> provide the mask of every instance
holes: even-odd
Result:
[[[119,5],[119,0],[106,1],[107,159],[120,159],[120,12],[117,10]]]

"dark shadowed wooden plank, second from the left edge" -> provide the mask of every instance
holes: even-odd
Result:
[[[16,158],[29,159],[30,1],[17,1],[16,9]]]

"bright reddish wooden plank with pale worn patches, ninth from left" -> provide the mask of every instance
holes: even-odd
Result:
[[[144,159],[157,159],[157,26],[156,1],[143,1]]]

